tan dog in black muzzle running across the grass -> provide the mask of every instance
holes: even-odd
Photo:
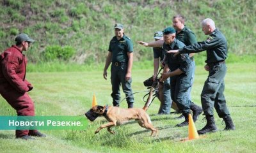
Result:
[[[95,131],[95,134],[99,133],[103,128],[108,128],[109,133],[115,134],[114,131],[111,131],[111,127],[120,126],[128,120],[135,119],[138,120],[138,124],[142,128],[150,129],[152,131],[151,136],[153,133],[156,133],[157,135],[157,129],[152,126],[148,114],[141,108],[125,109],[115,106],[93,106],[90,111],[98,115],[103,115],[109,121],[108,124],[100,126],[100,128]]]

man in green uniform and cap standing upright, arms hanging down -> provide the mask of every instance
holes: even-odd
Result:
[[[108,57],[106,59],[103,77],[107,79],[107,70],[111,64],[111,84],[113,106],[120,104],[120,85],[126,96],[128,108],[133,107],[134,98],[132,95],[132,61],[133,45],[129,37],[124,34],[124,25],[115,24],[115,36],[109,43]]]

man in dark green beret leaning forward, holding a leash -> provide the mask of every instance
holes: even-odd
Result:
[[[175,29],[167,27],[163,30],[165,51],[184,47],[184,43],[175,38]],[[166,65],[164,69],[170,68],[169,72],[162,73],[161,81],[170,77],[171,97],[182,111],[185,121],[177,124],[177,127],[188,126],[188,115],[190,113],[191,101],[188,99],[188,89],[191,87],[192,65],[188,54],[180,54],[176,57],[173,54],[166,54]]]

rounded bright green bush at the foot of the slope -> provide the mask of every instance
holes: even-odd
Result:
[[[46,61],[56,61],[57,59],[67,61],[74,53],[75,50],[73,47],[65,46],[61,48],[60,46],[54,45],[46,47],[43,56]]]

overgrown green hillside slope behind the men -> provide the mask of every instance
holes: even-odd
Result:
[[[0,3],[3,31],[0,33],[0,50],[12,45],[13,35],[17,32],[12,27],[39,41],[40,45],[34,45],[36,54],[29,55],[30,60],[38,59],[48,45],[68,45],[76,48],[72,62],[88,64],[91,61],[87,58],[92,53],[95,63],[104,62],[116,22],[124,24],[125,34],[134,44],[134,61],[152,60],[152,48],[141,47],[136,41],[152,41],[153,33],[172,25],[172,17],[178,13],[186,17],[186,25],[196,34],[198,41],[207,38],[202,33],[200,22],[210,17],[225,34],[229,53],[256,54],[256,42],[253,41],[256,38],[256,5],[253,0],[10,0]],[[81,54],[88,56],[82,62],[76,61]],[[38,60],[35,62],[40,62]]]

